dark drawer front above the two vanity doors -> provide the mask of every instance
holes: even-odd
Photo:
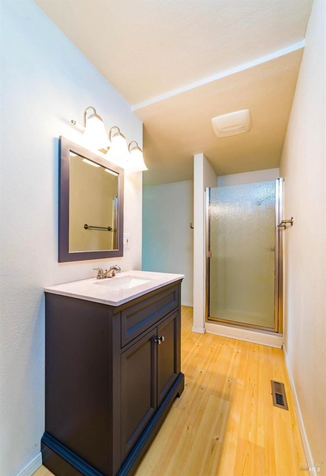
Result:
[[[159,321],[178,304],[179,286],[172,285],[121,311],[121,347]]]

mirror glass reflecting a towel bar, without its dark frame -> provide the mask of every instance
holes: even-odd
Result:
[[[69,252],[117,249],[118,176],[70,151]]]

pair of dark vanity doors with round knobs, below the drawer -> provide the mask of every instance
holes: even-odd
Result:
[[[176,310],[121,354],[121,442],[124,456],[177,379],[180,372],[179,340],[180,315]]]

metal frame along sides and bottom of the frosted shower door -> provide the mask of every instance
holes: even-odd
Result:
[[[210,276],[210,220],[209,220],[210,188],[206,188],[206,322],[231,325],[242,329],[257,329],[271,333],[283,333],[283,231],[278,224],[283,218],[283,178],[275,180],[275,282],[274,282],[274,327],[263,327],[255,324],[239,323],[209,316],[209,276]]]

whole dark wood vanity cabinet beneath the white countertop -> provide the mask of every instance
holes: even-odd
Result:
[[[180,286],[120,306],[46,293],[43,464],[132,474],[180,396]]]

